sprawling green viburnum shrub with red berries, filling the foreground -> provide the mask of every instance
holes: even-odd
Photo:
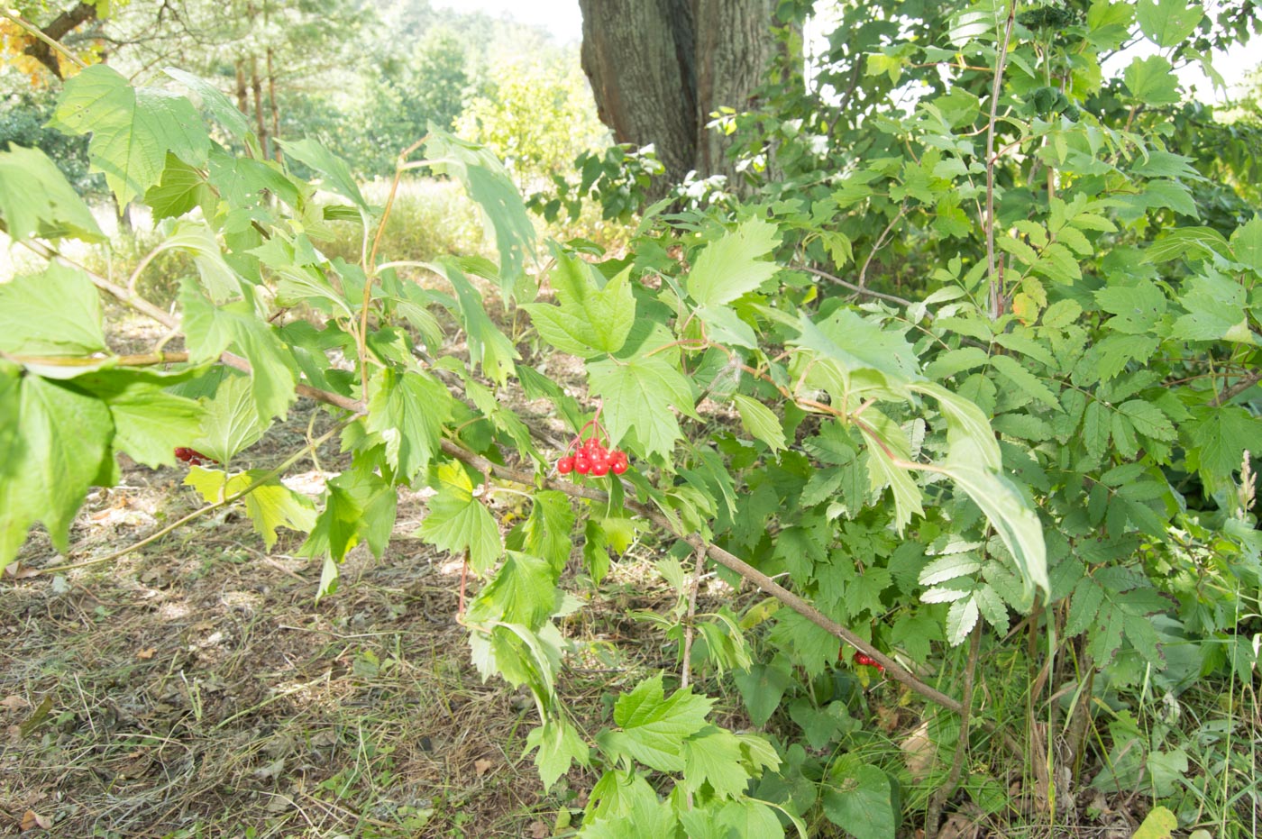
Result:
[[[1177,34],[1118,5],[1075,24],[1087,47],[1073,67],[1054,66],[1060,53],[1006,9],[973,6],[952,50],[875,57],[881,72],[939,62],[945,90],[907,115],[873,115],[888,144],[801,184],[822,189],[810,201],[786,191],[656,218],[625,256],[597,261],[538,247],[498,161],[438,130],[400,174],[459,180],[498,259],[379,252],[391,202],[370,206],[318,143],[283,143],[312,183],[262,159],[207,82],[168,69],[133,85],[88,67],[67,81],[53,125],[91,136],[119,202],[145,203],[158,251],[188,254],[197,275],[169,312],[136,291],[146,262],[127,281],[86,270],[58,249],[103,240],[87,207],[42,153],[0,153],[0,218],[47,259],[0,285],[0,564],[35,522],[64,551],[117,453],[189,463],[206,510],[240,501],[269,548],[280,527],[307,534],[299,553],[323,563],[321,596],[353,546],[384,555],[398,487],[430,487],[416,535],[480,582],[458,617],[483,676],[534,696],[528,747],[544,785],[574,765],[598,773],[586,836],[630,835],[628,824],[805,835],[820,814],[863,839],[892,836],[912,778],[872,748],[846,691],[883,679],[1020,753],[1011,720],[970,715],[984,627],[988,650],[1055,660],[1071,643],[1082,674],[1107,670],[1114,685],[1166,672],[1176,635],[1195,648],[1179,669],[1249,678],[1256,651],[1228,632],[1233,594],[1198,587],[1195,563],[1258,573],[1237,476],[1262,439],[1238,404],[1258,380],[1262,221],[1227,235],[1189,223],[1198,175],[1162,148],[1160,115],[1140,114],[1175,85],[1169,63],[1127,71],[1124,130],[1040,103],[1040,73],[1059,73],[1075,101],[1089,93],[1099,54],[1129,28],[1159,44]],[[955,54],[968,61],[952,69]],[[997,98],[972,92],[978,73]],[[360,259],[326,259],[329,226],[347,221]],[[864,285],[872,259],[854,242],[875,252],[890,237],[940,257],[917,265],[914,302]],[[851,267],[857,281],[837,278]],[[829,276],[859,298],[833,294]],[[516,339],[487,313],[486,288],[529,323]],[[102,293],[168,334],[116,353]],[[578,361],[582,387],[528,363],[550,353]],[[546,400],[568,447],[541,443],[516,396]],[[337,418],[310,445],[336,437],[351,455],[316,503],[279,479],[305,449],[278,469],[241,466],[298,399]],[[1219,507],[1188,510],[1179,474]],[[505,490],[530,497],[511,526],[490,503]],[[717,725],[716,699],[666,674],[620,694],[604,729],[575,725],[557,690],[570,647],[558,618],[577,608],[563,570],[578,559],[599,585],[646,527],[680,593],[663,623],[693,652],[684,674],[695,664],[732,679],[755,727],[779,714],[796,742]],[[705,563],[769,597],[697,614],[688,569]],[[1005,641],[1013,621],[1032,643]],[[968,638],[967,686],[938,684]],[[849,672],[824,685],[839,660]],[[934,719],[940,781],[968,737]]]

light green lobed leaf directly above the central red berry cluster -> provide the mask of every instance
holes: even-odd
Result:
[[[692,414],[693,392],[684,375],[661,356],[608,358],[587,363],[592,392],[604,401],[604,424],[615,443],[631,429],[647,454],[668,457],[681,437],[670,406]]]

